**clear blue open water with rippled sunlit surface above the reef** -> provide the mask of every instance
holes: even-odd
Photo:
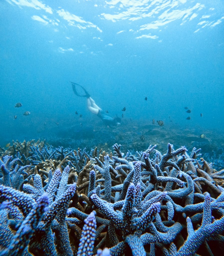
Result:
[[[215,132],[223,141],[222,0],[7,0],[0,7],[1,146],[59,135],[75,139],[86,128],[85,139],[96,125],[103,137],[107,127],[70,81],[110,116],[124,113],[123,132],[154,118],[164,121],[164,131],[205,133],[210,144]],[[214,147],[223,147],[217,140]]]

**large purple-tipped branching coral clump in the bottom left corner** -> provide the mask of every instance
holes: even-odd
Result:
[[[10,236],[13,238],[8,246],[2,248],[0,255],[23,255],[25,251],[34,255],[43,251],[44,255],[71,255],[65,217],[69,200],[76,190],[76,183],[67,185],[68,173],[69,166],[62,174],[57,169],[46,190],[42,187],[38,174],[34,176],[34,187],[29,184],[24,187],[27,193],[0,186],[0,202],[3,202],[1,208],[7,213],[7,208],[12,210],[11,206],[17,207],[23,215],[21,225],[14,235],[15,231],[11,231]]]

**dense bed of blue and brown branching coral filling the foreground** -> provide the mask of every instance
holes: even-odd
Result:
[[[2,150],[0,255],[203,256],[224,249],[224,169],[213,169],[200,148],[113,150],[41,141]]]

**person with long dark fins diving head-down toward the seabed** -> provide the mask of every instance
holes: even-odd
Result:
[[[77,83],[73,83],[71,82],[72,84],[72,89],[73,89],[73,92],[79,96],[79,97],[86,97],[87,98],[87,105],[88,105],[88,109],[95,115],[97,115],[100,119],[103,120],[104,124],[111,127],[111,126],[115,126],[115,125],[118,125],[121,123],[121,119],[116,116],[115,118],[112,118],[111,116],[109,115],[106,115],[103,113],[102,109],[100,107],[97,106],[97,104],[95,103],[95,101],[90,97],[90,94],[86,91],[85,88],[83,88],[81,85],[77,84]],[[77,90],[76,90],[76,87],[77,86],[80,86],[84,93],[83,95],[80,95]]]

